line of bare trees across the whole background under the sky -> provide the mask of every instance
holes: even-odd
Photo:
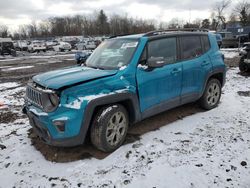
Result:
[[[231,6],[231,0],[221,0],[215,3],[211,16],[207,19],[196,19],[185,22],[174,18],[170,22],[135,19],[127,15],[114,14],[107,16],[103,10],[89,15],[74,15],[64,17],[51,17],[39,23],[20,25],[18,30],[10,33],[7,26],[0,26],[0,37],[14,39],[49,38],[54,36],[112,36],[122,34],[145,33],[156,29],[176,28],[204,28],[222,30],[227,24],[240,23],[241,26],[250,25],[250,3],[241,0],[232,8],[227,19],[225,12]]]

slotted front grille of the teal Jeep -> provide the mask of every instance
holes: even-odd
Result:
[[[26,89],[26,97],[29,102],[42,108],[43,105],[42,105],[42,93],[41,92],[32,88],[31,86],[28,86]]]

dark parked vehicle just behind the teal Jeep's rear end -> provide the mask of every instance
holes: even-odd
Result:
[[[222,36],[222,48],[237,48],[239,41],[233,36],[232,32],[218,32]]]

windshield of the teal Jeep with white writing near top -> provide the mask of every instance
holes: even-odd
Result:
[[[137,39],[106,40],[87,59],[86,66],[100,69],[119,69],[129,64],[137,45]]]

